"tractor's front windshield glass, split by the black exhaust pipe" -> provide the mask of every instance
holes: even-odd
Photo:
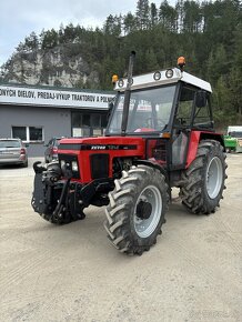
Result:
[[[169,123],[174,100],[175,84],[162,88],[142,89],[131,92],[128,133],[162,131]],[[121,133],[124,93],[117,98],[108,132]]]

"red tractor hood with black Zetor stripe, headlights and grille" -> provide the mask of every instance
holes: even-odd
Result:
[[[58,147],[60,165],[72,171],[81,183],[113,177],[114,160],[145,157],[145,141],[133,137],[62,139]],[[78,169],[77,169],[78,167]]]

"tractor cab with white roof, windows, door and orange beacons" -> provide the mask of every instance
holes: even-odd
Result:
[[[165,139],[165,162],[184,168],[191,132],[214,130],[211,85],[184,72],[183,66],[180,59],[180,68],[133,77],[130,87],[128,79],[114,77],[118,94],[105,135]]]

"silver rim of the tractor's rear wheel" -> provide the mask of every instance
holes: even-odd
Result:
[[[218,197],[223,178],[222,162],[218,157],[214,157],[206,169],[206,192],[211,199]]]

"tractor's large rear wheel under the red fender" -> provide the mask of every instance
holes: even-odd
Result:
[[[215,140],[200,142],[196,157],[183,173],[180,197],[192,213],[210,214],[219,207],[226,179],[225,153]]]

